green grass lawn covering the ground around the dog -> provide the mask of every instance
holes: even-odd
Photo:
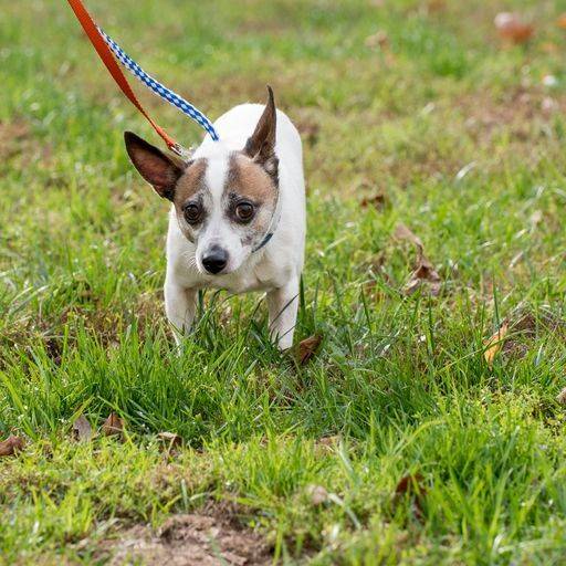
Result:
[[[6,4],[0,439],[27,448],[0,460],[0,563],[99,564],[130,525],[229,502],[284,564],[560,564],[566,4],[90,2],[211,117],[270,83],[304,133],[296,334],[324,337],[304,366],[270,345],[259,295],[207,293],[176,355],[167,207],[122,140],[153,134],[63,2]],[[493,18],[513,6],[536,34],[503,46]],[[416,255],[399,223],[439,296],[403,294]],[[504,318],[490,368],[483,340]],[[124,442],[72,439],[78,415],[98,427],[111,411]],[[164,453],[161,431],[185,448]],[[407,475],[419,485],[396,495]]]

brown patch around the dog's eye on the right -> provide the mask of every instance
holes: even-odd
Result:
[[[273,177],[260,164],[243,154],[230,156],[222,200],[243,245],[251,245],[265,235],[277,198],[279,188]],[[242,211],[251,211],[251,216],[247,218]]]

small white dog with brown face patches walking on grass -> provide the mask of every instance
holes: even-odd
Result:
[[[272,339],[293,344],[306,230],[301,137],[268,103],[241,104],[214,123],[190,159],[124,134],[135,168],[171,201],[165,307],[177,344],[192,326],[200,289],[266,292]]]

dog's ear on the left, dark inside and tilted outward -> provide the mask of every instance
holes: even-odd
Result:
[[[124,133],[124,142],[129,158],[142,177],[160,197],[172,200],[175,186],[185,171],[185,164],[165,155],[132,132]]]

